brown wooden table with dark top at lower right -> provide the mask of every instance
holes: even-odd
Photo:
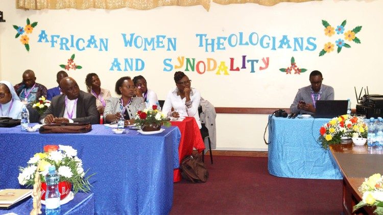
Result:
[[[343,175],[343,212],[352,213],[352,207],[362,200],[358,187],[365,178],[375,173],[383,173],[383,148],[332,144],[330,151]],[[374,208],[364,207],[356,213],[372,214]]]

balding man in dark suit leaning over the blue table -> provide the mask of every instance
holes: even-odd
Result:
[[[100,122],[95,97],[81,91],[76,80],[65,77],[60,81],[60,88],[63,94],[52,99],[51,105],[40,117],[41,123],[89,122],[98,124]]]

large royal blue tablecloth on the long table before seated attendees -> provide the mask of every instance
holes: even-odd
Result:
[[[21,188],[18,167],[47,144],[70,145],[82,159],[90,180],[97,214],[164,214],[173,202],[173,170],[179,167],[178,127],[141,135],[135,130],[116,135],[103,125],[82,134],[21,132],[0,128],[0,189]]]

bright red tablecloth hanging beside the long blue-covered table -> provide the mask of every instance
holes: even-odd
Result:
[[[179,163],[186,155],[191,155],[193,148],[196,148],[199,153],[205,149],[205,144],[202,140],[200,128],[194,117],[186,117],[182,121],[171,121],[173,126],[177,126],[181,131],[180,146],[178,148]],[[174,170],[173,181],[181,180],[180,169]]]

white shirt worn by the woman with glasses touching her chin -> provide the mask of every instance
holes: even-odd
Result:
[[[198,114],[198,106],[200,105],[201,94],[198,90],[192,88],[190,91],[190,101],[192,101],[192,107],[187,108],[185,105],[186,97],[181,99],[180,95],[177,95],[178,89],[175,88],[167,93],[166,100],[163,103],[162,112],[166,115],[172,110],[178,112],[180,117],[194,117],[196,118],[198,127],[201,129],[200,116]]]

